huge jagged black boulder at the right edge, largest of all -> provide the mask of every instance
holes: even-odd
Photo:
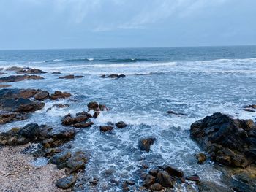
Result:
[[[220,164],[245,168],[255,161],[256,126],[252,120],[214,113],[192,123],[190,136]]]

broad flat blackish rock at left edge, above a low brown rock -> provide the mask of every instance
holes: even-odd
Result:
[[[45,107],[45,103],[31,101],[29,99],[5,99],[0,101],[0,110],[10,112],[35,112],[42,110]]]

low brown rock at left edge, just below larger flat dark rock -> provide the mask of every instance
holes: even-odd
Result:
[[[15,120],[25,120],[29,118],[28,115],[20,112],[0,111],[0,124],[9,123]]]

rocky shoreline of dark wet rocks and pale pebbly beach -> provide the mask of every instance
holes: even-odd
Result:
[[[7,71],[20,75],[1,77],[0,82],[16,82],[22,80],[43,80],[44,77],[33,74],[45,74],[40,69],[11,67]],[[29,74],[29,75],[28,75]],[[56,73],[59,74],[59,73]],[[124,75],[102,75],[102,78],[125,77]],[[59,79],[75,79],[82,76],[67,75]],[[3,86],[4,87],[4,86]],[[71,93],[54,91],[49,93],[39,89],[0,89],[0,125],[14,121],[26,120],[29,116],[45,107],[47,101],[65,100],[72,96]],[[69,107],[68,104],[53,104],[53,107]],[[244,109],[255,109],[249,105]],[[48,108],[51,110],[51,108]],[[52,125],[39,125],[37,122],[29,123],[23,127],[14,127],[6,132],[0,132],[0,156],[4,159],[1,164],[0,187],[3,191],[82,191],[84,185],[90,185],[92,191],[97,190],[99,178],[83,178],[86,166],[90,161],[90,154],[86,150],[71,150],[70,141],[83,128],[97,128],[102,133],[111,133],[113,130],[129,128],[124,121],[106,122],[105,125],[94,125],[93,119],[98,118],[101,112],[110,110],[104,104],[91,101],[85,111],[76,114],[67,114],[61,119],[64,128],[55,130]],[[248,110],[247,110],[248,111]],[[183,113],[168,111],[168,114],[182,116]],[[1,131],[1,129],[0,129]],[[214,181],[200,178],[197,174],[186,175],[183,170],[173,165],[148,167],[140,166],[139,180],[116,180],[111,178],[109,183],[118,185],[121,191],[255,191],[256,188],[256,126],[253,120],[234,119],[222,113],[214,113],[192,123],[190,136],[202,147],[205,153],[195,154],[198,164],[215,162],[217,169],[225,177],[225,186]],[[138,138],[138,150],[144,153],[151,151],[151,145],[157,139],[154,137]],[[37,147],[31,150],[31,146]],[[26,151],[26,154],[21,153]],[[8,156],[8,154],[12,154]],[[34,158],[46,158],[48,164],[39,168],[29,165]],[[13,158],[12,158],[13,157]],[[17,161],[22,160],[22,164]],[[15,178],[12,179],[12,169],[7,170],[7,164],[15,169]],[[53,164],[55,166],[53,166]],[[29,166],[23,170],[22,167]],[[36,177],[34,175],[39,174]],[[33,176],[31,176],[33,175]],[[48,177],[50,176],[50,177]],[[31,177],[31,183],[28,182]],[[24,178],[17,188],[9,181],[17,183],[18,178]],[[38,179],[39,178],[39,179]],[[42,183],[39,182],[42,180]],[[29,188],[29,185],[33,187]],[[29,189],[28,189],[29,188]],[[102,191],[108,191],[108,188]]]

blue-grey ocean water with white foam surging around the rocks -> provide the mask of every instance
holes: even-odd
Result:
[[[140,166],[171,164],[186,174],[197,173],[204,180],[222,183],[222,172],[213,162],[198,165],[195,154],[200,147],[189,138],[191,123],[214,112],[235,118],[255,120],[256,113],[246,112],[246,104],[256,104],[256,46],[170,47],[94,50],[2,50],[0,68],[29,66],[42,69],[44,80],[9,83],[12,88],[40,88],[50,93],[68,91],[72,99],[46,101],[44,109],[28,120],[7,123],[0,131],[26,123],[63,128],[61,118],[67,113],[87,110],[89,101],[110,108],[84,128],[72,141],[72,150],[90,153],[85,177],[98,177],[98,191],[120,191],[110,178],[135,180]],[[50,74],[61,72],[61,74]],[[7,72],[1,77],[14,74]],[[84,78],[60,80],[64,74]],[[118,80],[99,78],[102,74],[125,74]],[[50,110],[54,103],[70,104]],[[167,111],[185,115],[168,115]],[[97,126],[124,120],[128,127],[101,133]],[[151,152],[138,149],[143,137],[157,138]],[[106,177],[104,172],[113,170]],[[224,185],[224,184],[223,184]],[[86,188],[86,190],[90,190]],[[181,190],[182,191],[182,190]]]

